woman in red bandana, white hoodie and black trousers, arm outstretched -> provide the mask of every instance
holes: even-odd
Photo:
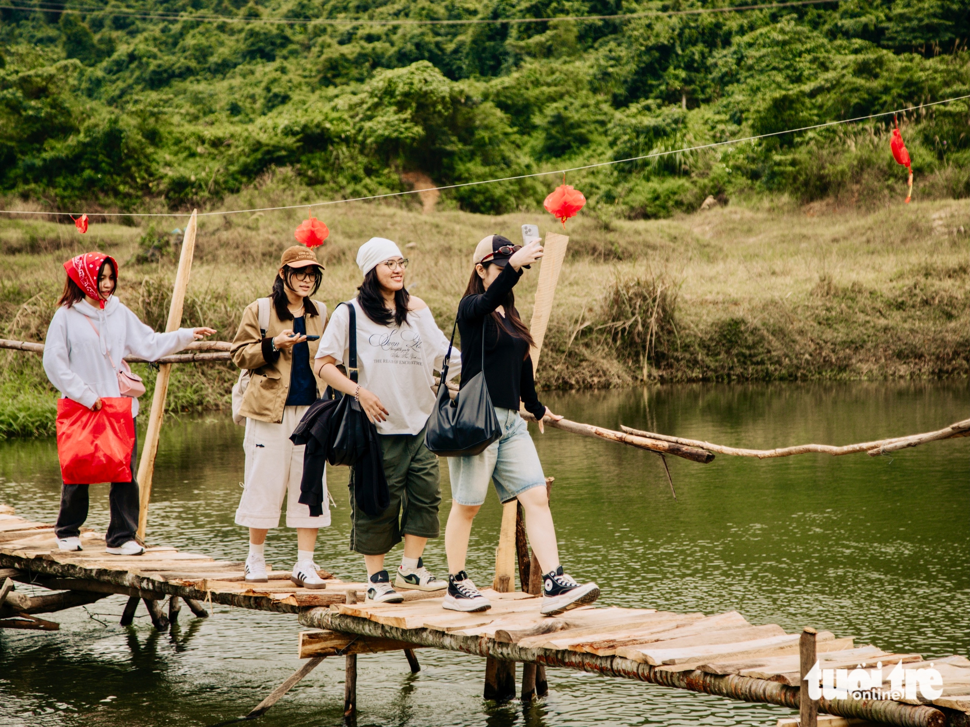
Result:
[[[118,266],[100,252],[78,255],[64,264],[67,280],[58,307],[50,319],[44,344],[44,370],[50,383],[66,398],[97,411],[101,398],[121,396],[122,361],[137,356],[156,361],[185,348],[191,341],[214,333],[209,328],[178,329],[156,333],[114,296]],[[123,374],[122,374],[123,375]],[[139,394],[144,393],[144,387]],[[131,402],[138,416],[138,399]],[[139,495],[135,481],[137,443],[131,451],[130,482],[113,482],[108,501],[111,523],[105,540],[113,555],[141,555],[145,548],[135,540]],[[88,485],[63,485],[60,513],[54,526],[57,547],[81,550],[81,525],[87,520]]]

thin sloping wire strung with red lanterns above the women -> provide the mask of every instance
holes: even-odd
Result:
[[[480,179],[478,181],[470,182],[460,182],[458,184],[444,184],[438,187],[426,187],[423,189],[410,189],[403,192],[388,192],[386,194],[380,195],[369,195],[367,197],[352,197],[342,200],[327,200],[325,202],[313,202],[304,205],[281,205],[275,207],[251,207],[248,209],[223,209],[215,210],[211,212],[198,212],[200,217],[209,217],[216,215],[228,215],[228,214],[254,214],[256,212],[275,212],[286,209],[307,209],[311,210],[313,207],[328,206],[328,205],[344,205],[350,202],[368,202],[372,200],[383,200],[390,197],[404,197],[405,195],[421,194],[422,192],[441,192],[448,189],[460,189],[462,187],[473,187],[479,184],[496,184],[503,181],[515,181],[518,179],[530,179],[537,176],[549,176],[550,174],[568,174],[570,172],[582,172],[584,170],[598,169],[599,167],[609,167],[615,164],[626,164],[629,162],[638,162],[644,159],[656,159],[663,156],[668,156],[670,154],[683,154],[689,151],[699,151],[701,149],[710,149],[718,146],[726,146],[728,144],[744,143],[744,142],[757,142],[760,139],[769,139],[771,137],[780,137],[786,134],[797,134],[803,131],[812,131],[814,129],[824,129],[831,126],[839,126],[841,124],[851,124],[857,121],[865,121],[867,119],[879,118],[881,116],[891,116],[900,113],[906,113],[908,111],[920,111],[921,109],[926,109],[931,106],[939,106],[941,104],[951,104],[954,101],[963,101],[965,99],[970,99],[970,94],[964,96],[954,96],[954,98],[944,99],[942,101],[931,101],[926,104],[921,104],[920,106],[910,106],[904,109],[895,109],[893,111],[880,111],[878,113],[870,113],[865,116],[856,116],[855,118],[845,118],[836,121],[825,121],[821,124],[812,124],[811,126],[801,126],[796,129],[786,129],[785,131],[773,131],[767,132],[765,134],[757,134],[750,137],[742,137],[740,139],[728,139],[724,142],[709,142],[697,144],[695,146],[687,146],[680,149],[668,149],[664,151],[654,151],[649,154],[642,154],[640,156],[631,156],[626,159],[613,159],[608,162],[598,162],[596,164],[584,164],[579,167],[568,167],[566,169],[549,170],[547,172],[534,172],[533,174],[515,174],[514,176],[502,176],[495,179]],[[81,212],[45,212],[37,210],[17,210],[17,209],[0,209],[0,214],[37,214],[37,215],[69,215],[75,216],[81,214]],[[92,212],[92,214],[97,214],[101,217],[187,217],[188,212]]]

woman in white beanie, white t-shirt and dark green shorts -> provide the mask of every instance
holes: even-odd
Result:
[[[391,504],[369,516],[350,496],[350,549],[364,555],[368,598],[398,603],[403,596],[391,585],[384,556],[404,538],[404,557],[395,585],[440,590],[446,581],[435,578],[421,559],[429,538],[438,537],[441,503],[438,462],[425,447],[425,426],[435,407],[434,371],[440,371],[448,339],[438,330],[428,305],[404,288],[407,259],[398,245],[372,237],[361,245],[357,265],[364,281],[357,298],[339,305],[320,340],[316,372],[327,384],[354,396],[377,427]],[[349,357],[350,313],[355,308],[358,382],[340,373]],[[455,349],[449,364],[461,368]],[[354,487],[351,470],[350,489]]]

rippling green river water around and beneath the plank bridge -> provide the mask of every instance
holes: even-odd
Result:
[[[684,386],[545,396],[570,419],[769,448],[848,444],[944,427],[970,416],[970,385]],[[813,625],[857,644],[927,656],[970,652],[970,438],[890,457],[807,455],[710,464],[660,458],[553,429],[533,431],[547,475],[566,569],[596,580],[601,604],[705,614],[735,609],[752,623]],[[329,474],[334,525],[317,561],[363,580],[347,551],[346,469]],[[228,415],[170,418],[162,434],[149,540],[243,559],[233,523],[242,481],[242,427]],[[0,443],[0,502],[53,522],[60,480],[52,440]],[[444,504],[450,507],[447,467]],[[92,492],[88,525],[107,526],[107,488]],[[475,523],[469,572],[491,581],[501,508]],[[443,529],[443,528],[442,528]],[[295,534],[275,530],[267,559],[290,567]],[[400,549],[392,552],[397,562]],[[443,539],[428,565],[445,572]],[[20,586],[20,592],[29,588]],[[0,630],[0,725],[211,725],[244,714],[300,666],[296,616],[216,607],[186,610],[156,633],[112,596],[51,618],[57,632]],[[773,725],[791,711],[650,684],[551,670],[550,694],[529,708],[481,698],[484,660],[418,652],[359,660],[359,725]],[[343,663],[328,659],[254,724],[342,724]]]

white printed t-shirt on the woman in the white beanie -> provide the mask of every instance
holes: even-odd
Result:
[[[357,314],[357,367],[361,387],[377,395],[388,410],[380,434],[417,434],[435,408],[434,371],[448,353],[448,339],[435,323],[430,308],[412,310],[404,326],[374,323],[354,299]],[[350,357],[347,333],[350,313],[339,305],[320,338],[316,358],[333,356],[346,365]],[[448,378],[462,370],[462,354],[452,349]]]

